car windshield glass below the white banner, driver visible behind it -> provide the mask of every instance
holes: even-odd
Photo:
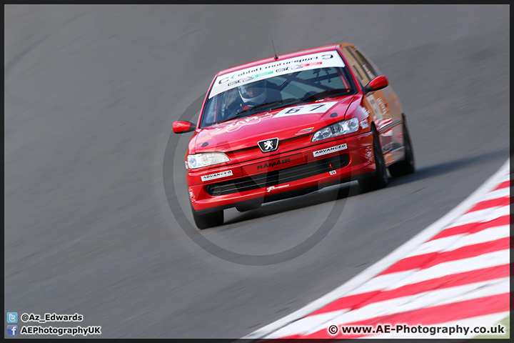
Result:
[[[293,71],[253,82],[245,80],[245,84],[232,86],[215,95],[211,91],[200,127],[293,104],[355,94],[346,72],[344,66]]]

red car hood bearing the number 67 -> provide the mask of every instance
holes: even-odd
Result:
[[[313,134],[323,126],[343,120],[353,97],[288,106],[208,126],[193,137],[190,148],[195,153],[237,151],[256,147],[256,142],[263,139],[283,141],[301,134]]]

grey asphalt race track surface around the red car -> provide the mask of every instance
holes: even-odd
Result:
[[[321,297],[508,158],[509,20],[508,5],[5,6],[4,313],[83,314],[102,338],[238,338]],[[418,171],[368,194],[346,184],[228,210],[201,232],[231,252],[277,254],[342,209],[312,249],[251,265],[178,224],[181,210],[192,221],[190,134],[176,155],[166,147],[214,74],[271,56],[271,39],[279,55],[363,49],[402,101]]]

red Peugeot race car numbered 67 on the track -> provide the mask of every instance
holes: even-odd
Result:
[[[186,154],[198,229],[246,211],[358,180],[368,191],[414,172],[398,96],[356,46],[320,46],[220,71]]]

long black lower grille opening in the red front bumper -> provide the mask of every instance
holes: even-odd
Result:
[[[218,196],[277,186],[278,184],[306,179],[307,177],[313,177],[314,175],[343,168],[343,166],[348,165],[349,161],[350,159],[348,158],[348,155],[342,154],[339,156],[333,156],[329,159],[322,159],[320,161],[313,161],[299,166],[273,170],[271,172],[257,174],[251,177],[243,177],[241,179],[209,184],[206,187],[206,191],[212,196]]]

